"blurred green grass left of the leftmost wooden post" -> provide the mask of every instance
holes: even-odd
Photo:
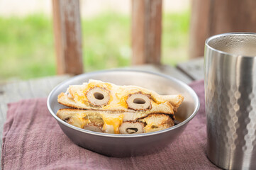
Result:
[[[43,15],[0,18],[0,79],[55,74],[52,21]]]

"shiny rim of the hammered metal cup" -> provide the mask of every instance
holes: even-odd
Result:
[[[209,38],[206,39],[205,41],[205,45],[206,47],[208,47],[209,49],[215,51],[215,52],[218,52],[218,53],[221,53],[223,55],[232,55],[232,56],[241,56],[241,55],[235,55],[233,53],[230,53],[230,52],[223,52],[221,50],[217,50],[216,48],[213,48],[211,47],[211,45],[209,45],[208,43],[213,40],[213,39],[216,39],[216,38],[219,38],[219,37],[223,37],[223,36],[226,36],[226,35],[253,35],[253,36],[256,36],[256,33],[249,33],[249,32],[233,32],[233,33],[221,33],[221,34],[217,34],[217,35],[213,35]],[[243,57],[256,57],[255,56],[249,56],[249,55],[242,55]]]

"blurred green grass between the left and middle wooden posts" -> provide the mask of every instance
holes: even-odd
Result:
[[[130,64],[130,18],[105,13],[82,21],[86,72]]]

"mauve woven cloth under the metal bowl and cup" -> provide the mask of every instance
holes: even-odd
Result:
[[[74,145],[50,115],[45,98],[9,104],[3,132],[2,169],[218,169],[206,157],[204,81],[191,87],[199,113],[165,149],[140,157],[106,157]]]

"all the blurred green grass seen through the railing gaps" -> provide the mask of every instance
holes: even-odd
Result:
[[[189,12],[163,15],[162,63],[187,59]],[[130,65],[130,16],[102,13],[82,19],[84,71]],[[0,81],[55,74],[52,18],[0,17]]]

